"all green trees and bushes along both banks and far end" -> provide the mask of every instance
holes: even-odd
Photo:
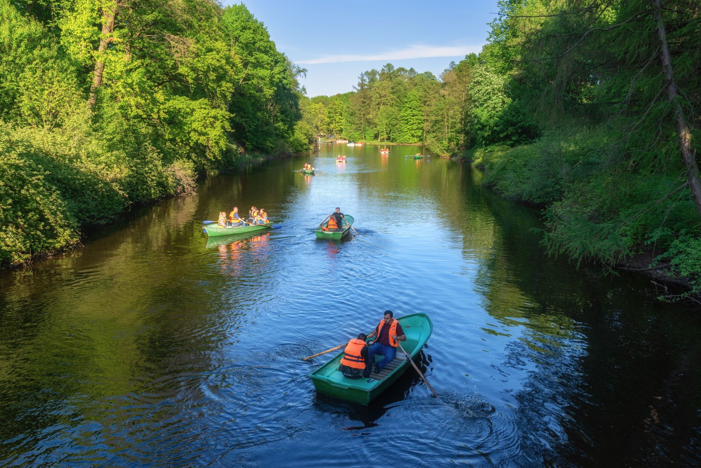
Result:
[[[660,298],[697,300],[695,2],[502,2],[482,51],[440,76],[386,64],[311,99],[243,4],[154,8],[0,0],[1,265],[245,155],[334,135],[470,161],[543,210],[549,254],[652,273],[686,285]]]

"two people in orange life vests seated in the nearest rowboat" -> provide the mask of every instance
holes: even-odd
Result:
[[[370,338],[377,337],[374,343],[367,343]],[[391,310],[385,310],[383,318],[374,331],[369,335],[359,333],[358,338],[348,341],[346,350],[343,352],[339,371],[347,378],[368,378],[370,371],[379,374],[387,364],[392,362],[397,355],[397,347],[400,341],[406,341],[407,336],[394,318]],[[375,355],[381,355],[383,359],[375,363]],[[374,369],[373,368],[374,364]]]

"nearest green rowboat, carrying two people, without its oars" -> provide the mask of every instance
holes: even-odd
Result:
[[[404,350],[407,350],[411,359],[416,359],[418,352],[421,351],[423,345],[428,341],[428,337],[431,336],[433,323],[428,318],[428,315],[423,313],[406,315],[397,320],[402,325],[404,335],[407,336],[407,340],[401,342],[402,347],[404,347]],[[343,352],[313,371],[309,374],[309,377],[311,377],[317,392],[364,405],[370,404],[370,401],[387,390],[397,378],[400,378],[404,371],[411,367],[411,363],[404,357],[404,352],[397,348],[397,355],[393,362],[387,364],[379,374],[371,372],[370,379],[351,379],[343,376],[341,371],[339,371],[341,357],[343,357]],[[375,356],[375,362],[380,362],[381,360],[381,356]],[[371,381],[368,382],[368,380]]]

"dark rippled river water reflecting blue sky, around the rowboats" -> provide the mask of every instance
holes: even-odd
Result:
[[[418,146],[322,144],[211,177],[0,275],[2,466],[693,466],[701,321],[642,277],[552,259],[538,213]],[[334,163],[337,153],[348,163]],[[309,160],[322,172],[293,170]],[[277,228],[207,241],[264,207]],[[334,207],[358,235],[315,239]],[[359,406],[308,373],[390,309],[418,364]]]

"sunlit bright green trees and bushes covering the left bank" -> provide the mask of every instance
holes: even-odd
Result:
[[[0,265],[198,173],[308,151],[301,73],[243,5],[0,0]]]

